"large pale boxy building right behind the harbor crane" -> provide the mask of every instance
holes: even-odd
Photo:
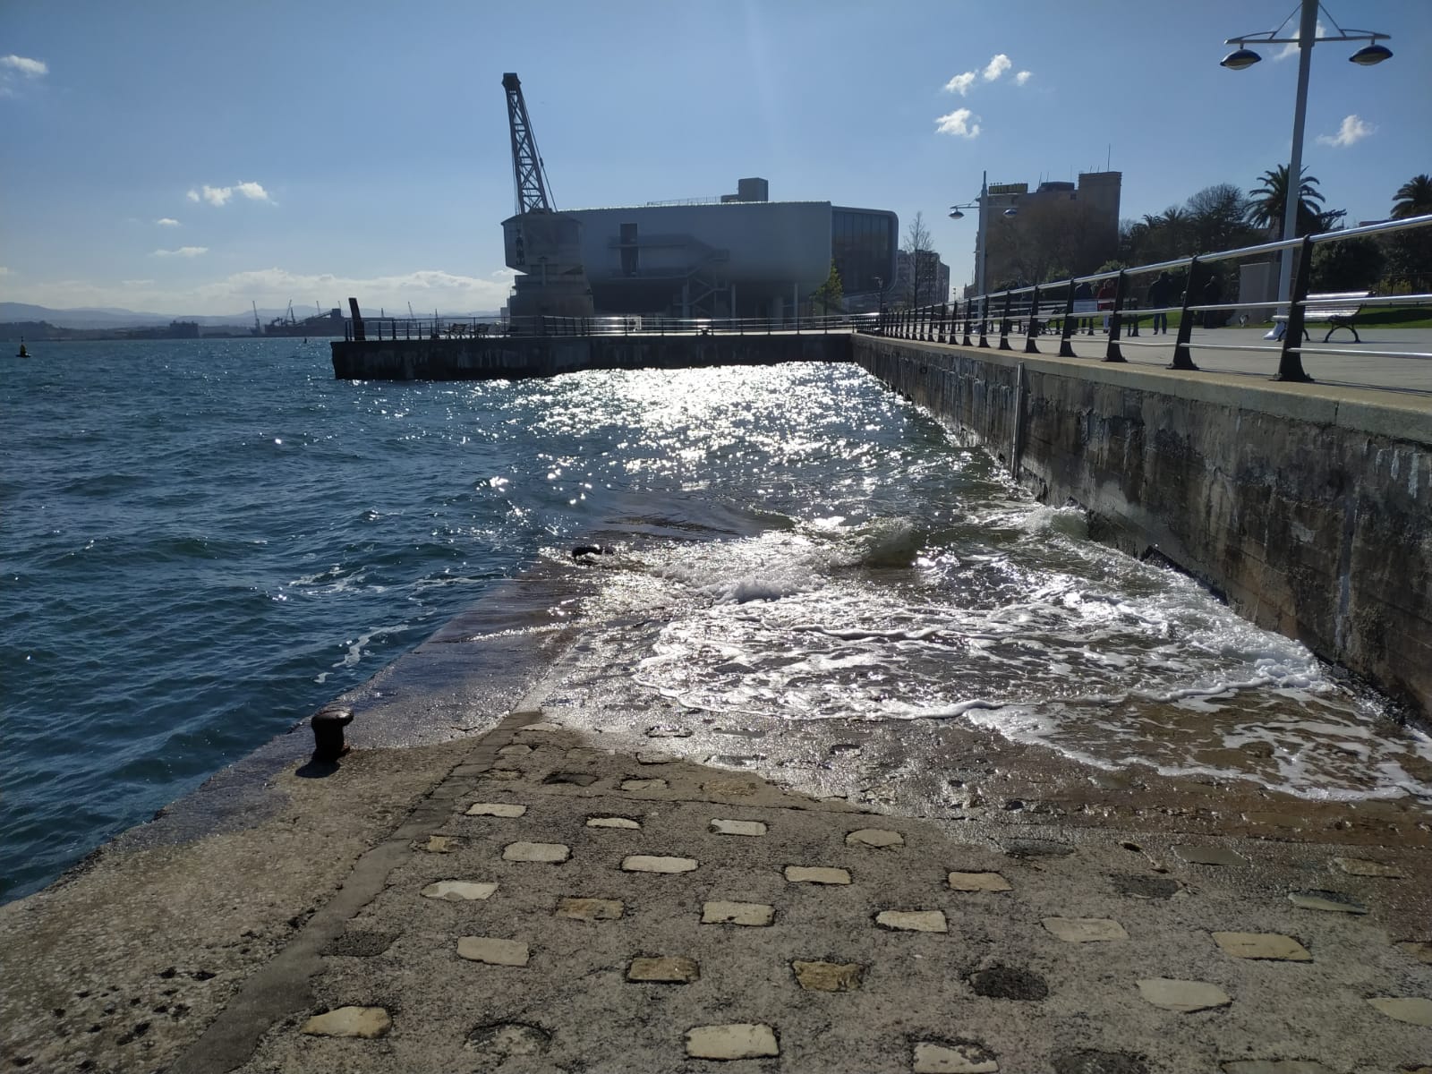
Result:
[[[894,212],[768,198],[769,183],[753,178],[719,199],[561,215],[580,223],[599,314],[789,319],[829,278],[832,261],[855,304],[892,286]]]

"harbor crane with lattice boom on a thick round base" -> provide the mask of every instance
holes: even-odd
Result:
[[[507,266],[518,272],[508,312],[513,316],[591,316],[591,285],[581,262],[581,222],[553,208],[551,185],[537,152],[517,74],[503,76],[503,90],[507,93],[517,208],[503,221]]]

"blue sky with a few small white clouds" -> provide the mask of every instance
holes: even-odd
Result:
[[[1290,152],[1296,0],[0,0],[0,301],[226,315],[498,308],[504,72],[557,208],[735,192],[922,213],[952,282],[990,182],[1123,172],[1121,216]],[[1382,219],[1432,173],[1432,0],[1329,0],[1305,168]],[[1329,17],[1330,16],[1330,17]],[[1296,17],[1286,27],[1292,33]],[[1292,50],[1286,50],[1292,52]]]

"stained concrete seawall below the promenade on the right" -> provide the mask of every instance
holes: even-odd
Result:
[[[855,361],[1090,530],[1432,723],[1432,410],[1418,398],[858,337]]]

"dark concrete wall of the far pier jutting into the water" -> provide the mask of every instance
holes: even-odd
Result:
[[[361,381],[554,377],[580,369],[846,362],[849,334],[335,341],[334,375]]]

